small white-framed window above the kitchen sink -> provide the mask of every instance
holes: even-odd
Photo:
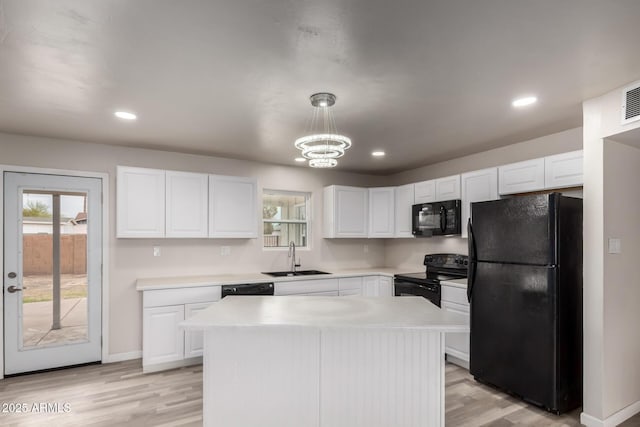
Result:
[[[289,242],[297,247],[309,245],[310,193],[264,190],[262,194],[262,225],[265,248],[286,248]]]

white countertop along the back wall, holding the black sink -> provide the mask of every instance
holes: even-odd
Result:
[[[278,283],[278,282],[291,282],[291,281],[297,281],[297,280],[337,279],[341,277],[358,277],[358,276],[393,277],[394,274],[400,273],[398,269],[386,268],[386,267],[343,269],[343,270],[322,270],[322,271],[328,271],[331,274],[318,274],[318,275],[310,275],[310,276],[293,276],[293,277],[271,277],[262,273],[243,273],[243,274],[218,274],[218,275],[203,275],[203,276],[142,278],[136,281],[136,290],[150,291],[150,290],[158,290],[158,289],[189,288],[189,287],[198,287],[198,286],[238,285],[243,283],[265,283],[265,282]]]

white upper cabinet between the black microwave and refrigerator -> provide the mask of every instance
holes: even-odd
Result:
[[[471,203],[497,200],[498,168],[482,169],[460,175],[462,187],[462,237],[467,237]]]

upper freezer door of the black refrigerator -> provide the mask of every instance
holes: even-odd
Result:
[[[555,206],[558,197],[559,194],[545,194],[473,203],[475,259],[556,264]]]

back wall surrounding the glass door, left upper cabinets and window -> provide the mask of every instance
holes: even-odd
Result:
[[[141,296],[135,290],[138,278],[258,272],[288,266],[287,251],[263,251],[261,239],[116,239],[116,165],[255,176],[259,191],[264,187],[312,192],[311,249],[298,251],[302,267],[331,271],[384,265],[381,240],[321,238],[322,188],[330,184],[376,186],[385,180],[382,177],[10,134],[0,134],[0,164],[102,172],[111,177],[110,354],[142,348]],[[231,247],[231,256],[220,255],[223,245]],[[162,256],[153,257],[153,246],[161,247]]]

